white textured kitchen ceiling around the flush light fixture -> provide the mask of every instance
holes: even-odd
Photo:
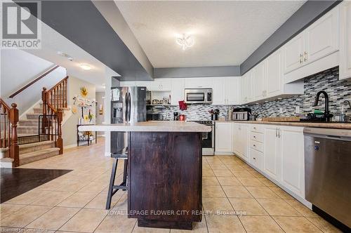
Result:
[[[240,65],[305,1],[115,1],[154,67]],[[195,44],[182,51],[176,37]]]

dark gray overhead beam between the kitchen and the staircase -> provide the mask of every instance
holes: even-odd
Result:
[[[153,80],[91,1],[42,1],[41,11],[43,22],[120,74],[121,80]]]

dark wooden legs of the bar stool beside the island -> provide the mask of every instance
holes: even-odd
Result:
[[[122,189],[124,191],[126,191],[128,189],[128,187],[127,187],[128,159],[125,159],[125,158],[123,158],[123,160],[124,160],[123,181],[121,182],[120,185],[114,185],[114,178],[116,176],[118,159],[122,159],[122,158],[114,157],[114,162],[112,165],[110,185],[109,185],[109,190],[107,193],[107,201],[106,201],[106,209],[107,210],[109,210],[111,208],[112,196],[114,194],[116,194],[116,192],[119,189]]]

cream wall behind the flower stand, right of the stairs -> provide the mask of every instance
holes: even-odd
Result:
[[[88,83],[82,79],[77,79],[74,76],[69,76],[68,78],[68,93],[67,93],[67,102],[68,105],[72,107],[74,95],[81,96],[80,88],[84,86],[88,90],[88,95],[85,98],[95,99],[95,85]],[[95,124],[95,105],[90,108],[84,109],[84,114],[88,114],[88,109],[91,109],[92,114],[94,115],[93,121],[86,124]],[[70,110],[71,111],[71,110]],[[64,147],[69,147],[72,145],[77,145],[77,124],[78,119],[81,117],[81,107],[77,107],[77,113],[72,114],[72,116],[67,119],[65,124],[62,125],[62,139]]]

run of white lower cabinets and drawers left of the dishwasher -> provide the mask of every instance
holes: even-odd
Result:
[[[305,199],[303,127],[234,122],[232,140],[241,159]]]

